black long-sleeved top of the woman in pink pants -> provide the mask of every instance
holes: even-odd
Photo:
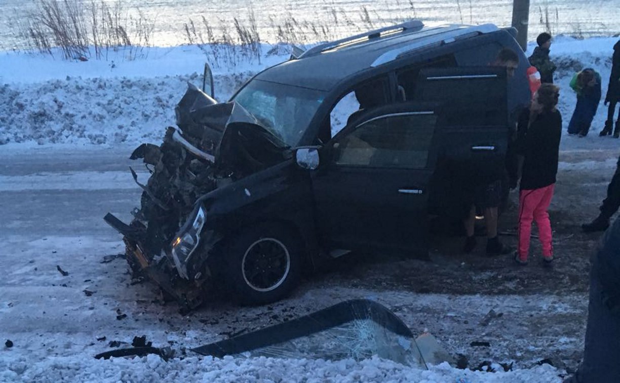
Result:
[[[518,123],[517,152],[524,157],[521,190],[544,188],[556,183],[562,136],[562,115],[557,110],[541,112],[529,123],[524,110]]]

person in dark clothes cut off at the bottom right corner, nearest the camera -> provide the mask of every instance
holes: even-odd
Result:
[[[620,219],[605,232],[591,264],[583,360],[564,383],[620,382]]]

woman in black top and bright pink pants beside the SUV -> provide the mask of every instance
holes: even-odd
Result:
[[[553,260],[549,203],[556,184],[562,116],[556,109],[559,89],[553,84],[542,84],[534,94],[529,110],[518,122],[517,151],[520,162],[521,187],[519,193],[519,247],[515,261],[528,263],[529,237],[532,221],[536,221],[542,244],[542,259]]]

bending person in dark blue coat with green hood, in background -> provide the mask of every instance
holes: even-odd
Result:
[[[577,93],[577,105],[570,118],[569,134],[584,137],[590,130],[590,124],[601,101],[601,75],[592,68],[575,73],[570,87]]]

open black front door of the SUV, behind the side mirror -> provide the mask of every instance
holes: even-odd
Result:
[[[362,113],[329,141],[312,175],[325,243],[428,252],[438,119],[434,104],[386,105]]]

